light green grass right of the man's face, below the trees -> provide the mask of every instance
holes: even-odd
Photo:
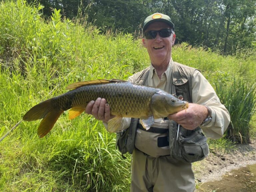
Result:
[[[256,54],[253,50],[240,50],[236,56],[226,56],[212,52],[204,47],[192,47],[184,42],[176,45],[172,57],[176,62],[199,69],[213,85],[216,81],[230,81],[230,78],[256,79]]]

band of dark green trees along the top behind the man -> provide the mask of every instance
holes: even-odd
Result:
[[[31,0],[30,0],[31,1]],[[255,0],[37,0],[51,15],[53,8],[73,18],[87,14],[87,21],[102,29],[133,33],[146,16],[161,12],[175,24],[177,42],[206,46],[224,54],[254,48]],[[89,6],[88,6],[89,5]]]

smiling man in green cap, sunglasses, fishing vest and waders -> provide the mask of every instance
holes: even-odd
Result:
[[[189,107],[166,118],[155,119],[148,131],[141,128],[138,120],[123,118],[115,132],[119,132],[119,149],[125,147],[133,154],[131,191],[192,192],[195,190],[195,178],[191,162],[208,155],[202,130],[207,137],[220,138],[229,125],[230,116],[198,70],[172,60],[175,33],[169,16],[161,13],[148,16],[143,33],[142,43],[148,51],[151,65],[129,77],[129,81],[175,94],[179,99],[189,101]],[[107,122],[113,116],[104,98],[91,101],[86,113],[102,120],[108,130]],[[131,130],[130,134],[126,134],[125,141],[121,140],[127,130]]]

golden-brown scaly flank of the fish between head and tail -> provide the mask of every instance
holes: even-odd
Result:
[[[111,83],[80,87],[65,93],[59,99],[65,97],[65,95],[74,93],[76,93],[76,95],[70,108],[77,106],[86,107],[89,101],[101,97],[107,100],[112,115],[125,116],[127,113],[130,114],[141,108],[149,107],[150,98],[155,93],[155,90],[150,90],[149,87],[136,86],[131,83]],[[56,102],[61,103],[61,101]],[[67,104],[64,106],[66,105]],[[63,108],[63,110],[66,109]]]

